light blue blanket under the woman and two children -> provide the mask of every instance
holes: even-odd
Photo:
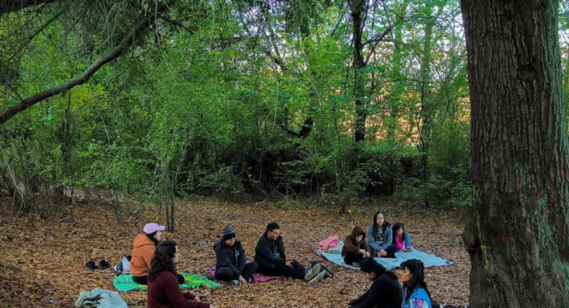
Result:
[[[323,251],[316,249],[316,253],[328,259],[332,263],[340,265],[341,267],[347,267],[352,269],[358,269],[348,265],[344,262],[344,258],[340,255],[344,243],[340,242],[338,247],[332,248],[331,251]],[[413,248],[410,252],[395,252],[395,258],[380,258],[375,257],[377,263],[383,265],[386,269],[393,269],[399,267],[403,261],[410,259],[419,259],[423,261],[424,267],[442,267],[444,265],[453,264],[452,261],[445,260],[441,257],[432,255],[431,253],[422,252],[417,248]]]

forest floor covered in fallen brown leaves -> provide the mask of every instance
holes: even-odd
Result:
[[[105,259],[112,265],[129,255],[134,237],[146,222],[163,222],[151,210],[142,210],[119,226],[114,211],[94,205],[62,207],[57,215],[39,218],[18,214],[0,200],[0,308],[73,307],[80,291],[114,290],[112,269],[87,270],[86,261]],[[370,282],[356,270],[338,267],[315,254],[320,240],[347,235],[356,224],[368,226],[381,208],[387,221],[402,221],[414,247],[452,260],[453,265],[426,269],[432,298],[440,303],[468,303],[470,263],[463,247],[464,209],[425,209],[393,201],[373,201],[351,206],[339,215],[339,206],[305,205],[302,202],[228,203],[192,198],[178,201],[176,230],[162,239],[178,242],[180,272],[208,274],[215,265],[212,245],[226,225],[236,230],[248,259],[265,226],[281,226],[287,257],[307,265],[321,261],[334,276],[316,284],[274,280],[242,286],[223,286],[193,292],[216,307],[346,307],[365,292]],[[203,243],[205,240],[205,243]],[[145,292],[121,293],[129,307],[145,307]]]

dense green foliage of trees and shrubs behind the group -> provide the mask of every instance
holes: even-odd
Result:
[[[225,193],[342,202],[395,194],[466,205],[469,110],[458,9],[452,1],[370,2],[364,39],[394,28],[362,50],[375,46],[361,70],[368,125],[356,144],[345,4],[176,3],[177,23],[161,20],[88,83],[2,127],[0,186],[88,186],[160,204]],[[65,15],[18,63],[2,53],[0,90],[12,93],[2,110],[77,76],[116,44],[120,31],[109,27],[129,24],[129,12],[108,23]],[[17,44],[16,34],[0,34],[2,47]]]

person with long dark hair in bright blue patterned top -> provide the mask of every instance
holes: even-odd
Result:
[[[417,259],[407,260],[399,266],[402,269],[399,281],[403,284],[402,308],[432,308],[431,293],[424,281],[423,262]]]

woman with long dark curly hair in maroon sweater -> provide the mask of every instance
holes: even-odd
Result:
[[[176,278],[179,261],[176,242],[167,240],[156,247],[148,275],[147,308],[215,308],[200,302],[192,293],[180,291]]]

